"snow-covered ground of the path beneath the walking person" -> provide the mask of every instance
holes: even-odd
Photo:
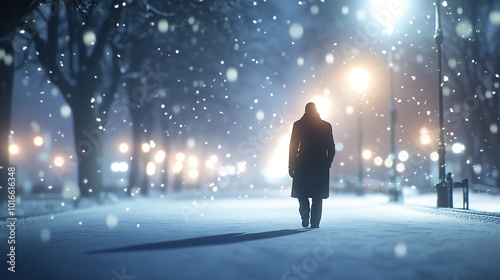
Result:
[[[333,196],[302,229],[291,198],[137,199],[19,219],[1,279],[500,279],[500,218]],[[7,277],[5,277],[5,275]]]

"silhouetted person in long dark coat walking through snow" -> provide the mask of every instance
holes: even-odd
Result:
[[[323,121],[314,103],[307,103],[302,118],[293,124],[288,172],[292,197],[299,200],[302,226],[318,228],[323,199],[329,196],[330,167],[335,156],[332,125]],[[309,198],[312,198],[310,207]]]

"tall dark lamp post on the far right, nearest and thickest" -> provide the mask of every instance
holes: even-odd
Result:
[[[436,8],[436,31],[434,41],[438,53],[438,81],[439,81],[439,182],[436,184],[437,191],[437,207],[450,207],[451,205],[451,186],[446,180],[446,148],[444,145],[444,116],[443,116],[443,63],[442,63],[442,43],[443,30],[441,29],[441,1],[435,0]]]

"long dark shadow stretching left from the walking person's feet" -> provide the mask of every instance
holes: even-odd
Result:
[[[95,250],[87,252],[86,254],[130,252],[130,251],[144,251],[144,250],[167,250],[167,249],[178,249],[187,247],[224,245],[224,244],[232,244],[245,241],[276,238],[281,236],[298,234],[306,231],[308,231],[308,229],[283,229],[283,230],[266,231],[259,233],[228,233],[228,234],[187,238],[187,239],[180,239],[173,241],[145,243],[145,244],[111,248],[105,250]]]

